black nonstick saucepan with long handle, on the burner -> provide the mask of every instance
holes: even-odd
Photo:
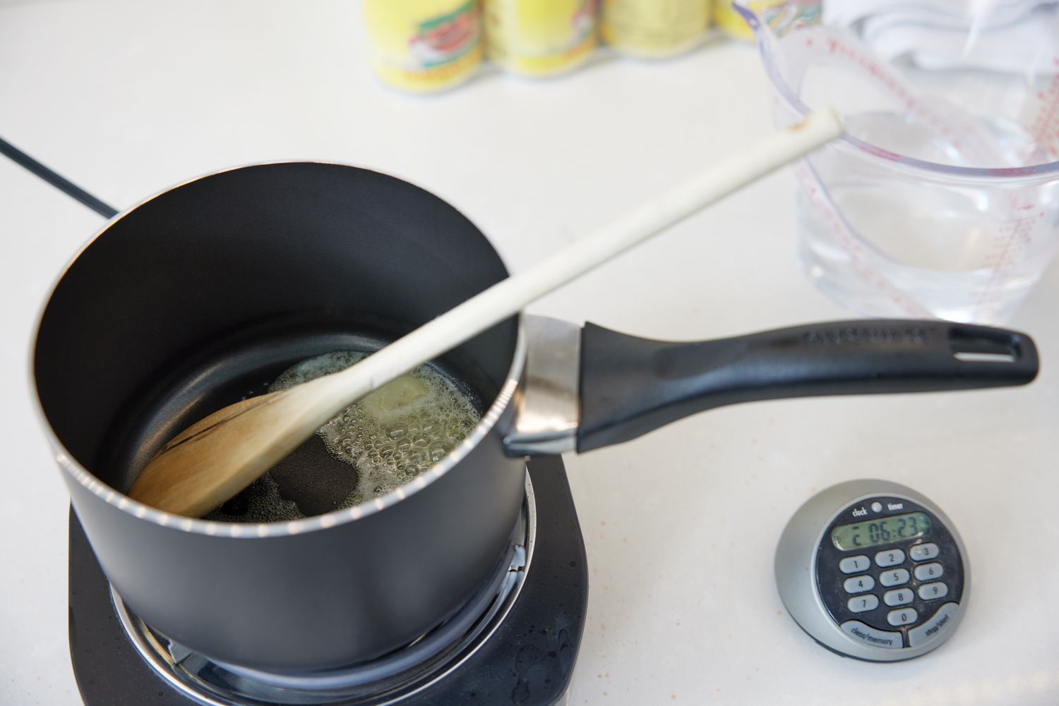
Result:
[[[438,362],[477,395],[481,423],[374,503],[231,524],[123,495],[167,437],[286,366],[377,347],[506,274],[454,209],[351,166],[223,171],[110,220],[46,304],[33,374],[74,509],[126,604],[220,662],[356,664],[438,624],[495,574],[523,500],[521,454],[587,451],[734,402],[1016,385],[1037,372],[1028,337],[943,322],[666,343],[513,318]],[[326,510],[338,461],[306,443],[277,473],[306,511]]]

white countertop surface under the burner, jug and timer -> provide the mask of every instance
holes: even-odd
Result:
[[[484,76],[433,97],[377,84],[359,4],[0,0],[0,137],[121,209],[247,162],[322,159],[409,179],[513,269],[770,130],[749,46],[555,80]],[[770,177],[532,307],[670,339],[852,315],[803,278],[794,183]],[[32,412],[30,330],[102,219],[0,159],[0,704],[79,704],[67,646],[68,499]],[[566,458],[591,566],[571,704],[1059,703],[1059,348],[1053,267],[1011,325],[1027,388],[760,402]],[[966,619],[938,650],[866,664],[816,646],[772,560],[814,491],[886,477],[967,545]]]

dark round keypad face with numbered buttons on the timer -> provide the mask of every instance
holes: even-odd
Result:
[[[903,512],[910,511],[922,512],[908,503]],[[877,527],[885,528],[881,523],[884,518],[879,517]],[[868,531],[873,529],[872,521],[870,518],[860,520],[860,517],[852,520],[862,523]],[[927,530],[931,535],[929,538],[918,535],[908,539],[892,537],[890,542],[875,546],[872,542],[878,540],[872,538],[862,551],[870,550],[855,556],[846,556],[850,554],[848,544],[839,544],[840,540],[832,539],[830,531],[825,532],[818,556],[818,562],[822,562],[818,563],[818,582],[822,587],[826,583],[834,586],[831,591],[837,590],[838,595],[828,592],[833,598],[824,594],[824,602],[846,634],[868,645],[900,649],[922,644],[951,624],[946,616],[958,607],[951,601],[961,598],[963,566],[953,563],[959,558],[955,547],[949,547],[952,540],[948,530],[933,518],[928,517],[926,521],[930,527]],[[843,524],[850,524],[848,515],[840,515],[832,526],[838,527],[837,532],[842,532]],[[858,531],[863,530],[858,528]],[[841,539],[849,541],[847,537]],[[865,542],[865,535],[854,540],[855,544],[860,542]],[[834,578],[826,578],[826,575]],[[841,603],[836,601],[839,595],[844,595]],[[941,603],[945,604],[938,608]],[[883,645],[885,640],[892,641]]]

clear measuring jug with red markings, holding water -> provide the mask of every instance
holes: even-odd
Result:
[[[821,105],[846,123],[795,167],[810,279],[863,313],[1007,321],[1059,246],[1059,54],[1022,73],[928,69],[807,24],[798,3],[738,10],[776,123]]]

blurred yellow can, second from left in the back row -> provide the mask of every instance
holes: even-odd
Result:
[[[485,0],[485,54],[523,76],[584,64],[595,48],[596,0]]]

